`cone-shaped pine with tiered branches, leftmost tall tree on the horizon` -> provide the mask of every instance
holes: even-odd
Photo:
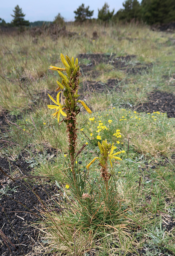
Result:
[[[11,14],[12,17],[14,17],[14,19],[12,20],[12,23],[14,24],[14,26],[16,27],[24,27],[24,26],[29,26],[29,21],[28,20],[24,20],[24,16],[26,16],[26,14],[24,14],[22,12],[22,8],[19,7],[19,5],[15,6],[15,9],[13,10],[14,15]]]

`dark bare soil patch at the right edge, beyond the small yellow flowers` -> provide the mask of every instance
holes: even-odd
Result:
[[[151,92],[148,101],[135,106],[134,109],[137,109],[138,112],[167,112],[169,118],[175,118],[175,96],[167,92]]]

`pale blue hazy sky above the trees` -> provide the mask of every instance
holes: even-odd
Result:
[[[14,14],[13,10],[17,4],[26,14],[25,20],[34,22],[38,20],[53,21],[58,13],[65,18],[65,21],[74,21],[74,10],[82,3],[85,4],[85,7],[89,6],[89,10],[94,10],[92,18],[97,18],[98,8],[101,9],[105,2],[109,5],[109,10],[115,9],[114,13],[116,13],[123,8],[124,0],[0,0],[0,2],[0,18],[6,22],[12,21],[13,17],[10,14]]]

